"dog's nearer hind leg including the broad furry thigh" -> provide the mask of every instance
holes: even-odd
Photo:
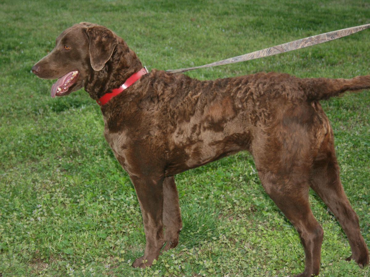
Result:
[[[310,277],[320,271],[323,229],[309,204],[312,136],[295,116],[301,109],[293,107],[268,133],[256,132],[251,148],[263,188],[296,228],[305,250],[305,270],[297,276]]]

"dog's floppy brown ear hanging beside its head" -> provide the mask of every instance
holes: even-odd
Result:
[[[111,58],[117,46],[115,34],[103,26],[89,27],[86,31],[90,40],[89,52],[92,69],[100,71]]]

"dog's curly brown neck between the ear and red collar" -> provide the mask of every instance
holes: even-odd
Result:
[[[120,39],[109,61],[100,71],[93,71],[85,81],[85,91],[94,100],[120,87],[132,74],[142,69],[135,52]]]

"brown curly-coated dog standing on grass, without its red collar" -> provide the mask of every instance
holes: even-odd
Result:
[[[84,87],[98,102],[141,69],[124,40],[91,23],[63,31],[53,51],[32,67],[40,78],[59,78],[51,96]],[[178,244],[182,222],[174,175],[240,150],[252,153],[263,188],[299,233],[306,256],[299,276],[319,274],[320,268],[323,230],[309,206],[310,187],[347,234],[349,259],[360,267],[369,263],[319,100],[369,89],[370,76],[257,73],[199,81],[152,70],[138,78],[101,106],[105,139],[134,184],[144,221],[144,256],[132,266],[151,266],[164,244],[164,250]]]

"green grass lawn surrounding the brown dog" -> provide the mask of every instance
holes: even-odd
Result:
[[[293,276],[303,248],[263,191],[248,153],[176,176],[184,229],[178,247],[147,269],[138,202],[83,90],[51,99],[30,73],[57,35],[80,21],[124,37],[150,69],[225,59],[370,23],[366,1],[21,1],[0,3],[0,276]],[[198,79],[281,71],[300,77],[369,74],[369,31],[273,57],[187,74]],[[370,246],[369,91],[322,102],[336,136],[342,181]],[[322,201],[320,276],[370,276]]]

